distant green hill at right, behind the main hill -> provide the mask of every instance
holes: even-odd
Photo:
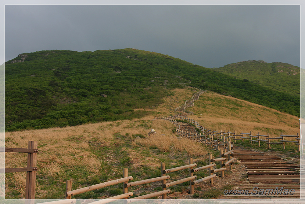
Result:
[[[300,94],[300,67],[290,64],[250,60],[212,69],[273,90]]]

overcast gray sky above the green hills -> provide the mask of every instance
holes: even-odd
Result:
[[[5,5],[5,61],[128,47],[208,68],[246,60],[300,66],[300,6]]]

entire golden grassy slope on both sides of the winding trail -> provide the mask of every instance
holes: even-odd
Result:
[[[157,177],[160,176],[160,162],[165,162],[167,168],[186,165],[189,156],[194,158],[198,166],[206,165],[206,155],[210,150],[190,140],[178,142],[173,133],[174,125],[167,121],[153,120],[155,116],[174,114],[175,107],[182,105],[197,92],[194,88],[173,91],[173,95],[164,98],[164,103],[154,109],[153,115],[144,118],[7,132],[5,145],[26,148],[29,140],[38,141],[36,198],[45,199],[64,198],[66,180],[73,180],[72,187],[77,189],[120,178],[123,168],[129,169],[129,176],[134,176],[134,181]],[[224,104],[223,107],[219,106],[221,103]],[[259,130],[261,134],[277,134],[281,131],[295,134],[298,131],[297,118],[294,116],[210,91],[201,95],[190,109],[196,113],[192,117],[207,128],[244,132]],[[156,137],[147,136],[150,128],[157,131]],[[219,153],[213,154],[216,156]],[[26,165],[25,154],[6,153],[5,156],[7,168]],[[187,175],[188,172],[182,174]],[[25,173],[6,173],[5,176],[6,198],[23,198]],[[171,179],[179,178],[178,173],[170,176]],[[200,172],[198,176],[207,176],[207,172]],[[170,189],[173,192],[186,192],[187,185]],[[121,185],[117,185],[76,195],[74,198],[105,198],[122,193],[121,188]],[[136,195],[159,190],[160,184],[131,188]],[[199,195],[198,198],[205,198],[203,191],[196,190],[195,193]]]

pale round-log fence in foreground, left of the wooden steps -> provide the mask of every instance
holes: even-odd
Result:
[[[231,147],[231,146],[229,146]],[[110,185],[115,185],[115,184],[120,184],[123,183],[123,194],[121,195],[117,195],[117,196],[113,196],[110,198],[105,198],[101,201],[97,201],[97,202],[93,202],[94,204],[103,204],[103,203],[107,203],[107,202],[111,202],[113,200],[118,200],[118,199],[127,199],[127,203],[129,202],[135,202],[138,199],[148,199],[148,198],[152,198],[155,196],[160,196],[162,195],[162,199],[166,199],[167,198],[167,194],[170,193],[170,190],[167,189],[170,186],[174,186],[177,184],[181,184],[184,182],[189,181],[189,188],[190,188],[190,194],[194,194],[194,186],[196,184],[199,184],[203,181],[206,180],[210,180],[211,185],[213,185],[213,178],[216,177],[217,175],[215,174],[216,172],[219,171],[224,171],[226,170],[226,168],[223,168],[223,166],[230,164],[230,170],[232,170],[232,162],[233,159],[230,159],[231,156],[233,156],[233,150],[228,151],[225,154],[222,154],[222,151],[220,151],[220,158],[215,158],[212,159],[212,154],[209,155],[209,164],[202,166],[202,167],[197,167],[196,163],[193,163],[193,159],[189,158],[189,164],[188,165],[184,165],[184,166],[179,166],[179,167],[175,167],[175,168],[170,168],[170,169],[166,169],[165,168],[165,163],[161,163],[161,176],[160,177],[156,177],[156,178],[151,178],[151,179],[145,179],[145,180],[139,180],[139,181],[135,181],[135,182],[130,182],[128,183],[128,181],[133,180],[132,176],[128,176],[128,169],[124,168],[123,169],[123,178],[117,179],[117,180],[112,180],[112,181],[107,181],[104,183],[100,183],[100,184],[95,184],[92,186],[88,186],[88,187],[83,187],[83,188],[79,188],[76,190],[72,190],[72,181],[71,180],[67,180],[66,182],[66,199],[71,199],[71,196],[73,195],[77,195],[80,193],[84,193],[84,192],[88,192],[88,191],[93,191],[93,190],[97,190],[99,188],[103,188],[103,187],[107,187]],[[213,167],[216,166],[216,163],[213,163],[215,161],[224,161],[226,155],[229,155],[229,161],[227,161],[226,163],[221,163],[221,169],[213,169]],[[197,167],[194,169],[194,167]],[[180,180],[175,180],[172,182],[167,183],[166,180],[170,179],[170,174],[171,172],[176,172],[176,171],[180,171],[180,170],[184,170],[184,169],[189,169],[189,177],[180,179]],[[197,176],[194,175],[194,173],[200,171],[200,170],[204,170],[204,169],[209,169],[209,176],[203,177],[201,179],[197,179]],[[224,173],[221,174],[221,176],[224,176]],[[162,191],[157,191],[157,192],[153,192],[150,194],[146,194],[146,195],[141,195],[138,197],[134,197],[134,198],[129,198],[131,196],[134,195],[133,192],[128,192],[128,188],[129,187],[133,187],[133,186],[138,186],[138,185],[142,185],[142,184],[148,184],[148,183],[152,183],[152,182],[157,182],[157,181],[161,181],[161,190]],[[129,198],[129,199],[128,199]]]

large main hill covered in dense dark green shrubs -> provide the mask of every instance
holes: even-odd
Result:
[[[22,57],[23,62],[16,62]],[[143,116],[151,112],[135,109],[149,107],[153,111],[171,94],[170,89],[182,87],[181,83],[300,114],[296,94],[168,55],[130,48],[45,50],[24,53],[5,63],[5,131]]]

